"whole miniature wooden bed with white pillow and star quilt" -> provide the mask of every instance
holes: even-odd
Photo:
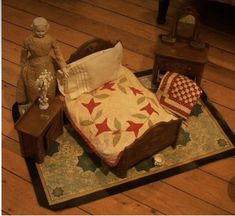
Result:
[[[59,89],[73,128],[123,178],[137,162],[174,147],[181,119],[166,112],[121,60],[120,43],[89,41],[71,55],[70,77]]]

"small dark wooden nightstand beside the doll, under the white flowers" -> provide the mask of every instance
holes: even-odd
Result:
[[[21,153],[42,163],[51,140],[63,133],[63,109],[59,99],[49,99],[49,108],[40,110],[38,103],[34,104],[16,122]]]

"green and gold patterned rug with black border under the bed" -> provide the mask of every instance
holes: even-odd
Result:
[[[150,86],[150,76],[139,79]],[[234,154],[228,138],[234,141],[233,133],[208,106],[203,100],[196,104],[180,129],[176,149],[168,147],[136,164],[124,179],[87,148],[70,124],[65,125],[44,162],[28,162],[39,203],[53,209],[79,205]]]

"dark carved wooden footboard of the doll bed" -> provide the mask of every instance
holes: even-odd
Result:
[[[115,174],[125,178],[127,170],[136,163],[150,157],[162,149],[172,146],[175,148],[182,120],[160,122],[148,129],[134,143],[124,149],[123,155],[114,167]]]

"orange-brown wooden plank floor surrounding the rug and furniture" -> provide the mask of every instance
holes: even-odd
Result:
[[[157,26],[157,0],[4,0],[2,5],[2,214],[235,214],[228,193],[235,157],[62,211],[38,205],[11,118],[23,39],[32,19],[44,16],[67,59],[85,41],[121,40],[123,64],[152,68],[157,36],[165,33],[182,0],[170,4],[167,23]],[[210,44],[202,88],[235,132],[235,36],[202,26]],[[235,194],[233,194],[233,198]]]

